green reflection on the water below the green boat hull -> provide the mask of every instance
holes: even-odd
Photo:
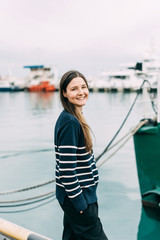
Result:
[[[160,209],[142,207],[137,240],[160,239]]]

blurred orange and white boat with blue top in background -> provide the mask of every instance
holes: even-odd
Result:
[[[24,66],[29,68],[30,75],[27,79],[26,89],[30,92],[53,92],[54,86],[54,74],[51,72],[51,67],[45,67],[44,65],[36,66]]]

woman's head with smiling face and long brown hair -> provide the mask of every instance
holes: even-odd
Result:
[[[82,91],[81,89],[84,89],[84,88],[85,88],[85,91]],[[78,92],[80,91],[79,92],[80,94],[77,93],[77,91]],[[74,93],[74,92],[75,94],[72,95],[71,93]],[[88,94],[89,94],[88,83],[86,78],[81,73],[79,73],[78,71],[69,71],[63,75],[60,82],[60,99],[61,99],[62,105],[67,112],[71,113],[76,119],[78,119],[81,125],[81,128],[83,130],[85,147],[87,151],[91,151],[92,139],[90,136],[90,127],[86,123],[85,118],[82,114],[82,106],[86,104],[86,101],[88,99]],[[79,99],[79,101],[76,100],[75,102],[75,98],[84,98],[84,99],[83,100]],[[79,107],[77,107],[77,104],[75,103],[80,104]]]

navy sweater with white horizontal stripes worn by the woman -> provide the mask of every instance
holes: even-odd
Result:
[[[56,154],[56,198],[63,204],[67,195],[77,211],[97,201],[98,170],[93,153],[86,152],[79,121],[66,110],[54,132]]]

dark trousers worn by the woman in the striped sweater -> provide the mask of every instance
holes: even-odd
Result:
[[[61,206],[64,211],[62,240],[108,240],[98,217],[98,204],[89,204],[81,214],[68,197]]]

